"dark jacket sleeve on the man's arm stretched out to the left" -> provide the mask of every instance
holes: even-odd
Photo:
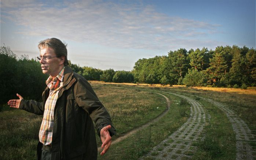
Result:
[[[34,100],[21,100],[19,108],[37,115],[43,115],[43,103]]]

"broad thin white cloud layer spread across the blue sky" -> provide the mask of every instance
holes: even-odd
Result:
[[[32,0],[1,0],[1,10],[5,18],[23,26],[17,31],[20,34],[43,37],[56,35],[64,40],[93,42],[117,48],[186,47],[187,44],[180,43],[202,43],[219,26],[171,17],[157,12],[151,5],[140,3],[65,1],[48,4]],[[193,41],[188,40],[191,37]]]

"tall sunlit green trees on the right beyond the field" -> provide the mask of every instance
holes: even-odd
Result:
[[[132,70],[136,82],[188,86],[256,86],[256,50],[246,46],[180,48],[167,56],[139,59]]]

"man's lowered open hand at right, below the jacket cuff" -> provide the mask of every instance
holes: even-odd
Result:
[[[107,150],[109,149],[110,147],[110,144],[111,144],[111,139],[112,137],[110,136],[109,134],[109,129],[111,128],[110,125],[106,126],[106,127],[103,127],[101,130],[100,130],[100,139],[102,141],[102,145],[101,145],[101,148],[104,148],[103,151],[100,153],[100,155],[104,155]]]

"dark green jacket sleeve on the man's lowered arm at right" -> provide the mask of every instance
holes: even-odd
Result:
[[[91,85],[85,79],[79,78],[77,79],[75,90],[77,104],[89,113],[95,123],[98,135],[100,136],[100,130],[108,125],[111,125],[110,135],[116,134],[116,129],[111,122],[109,113],[99,101]]]

